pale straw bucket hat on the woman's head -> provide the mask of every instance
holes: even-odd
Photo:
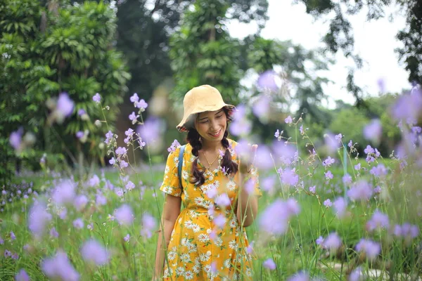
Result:
[[[183,100],[184,115],[183,119],[176,128],[180,132],[189,131],[189,128],[186,123],[190,121],[192,115],[196,115],[200,112],[205,111],[215,111],[221,110],[223,107],[226,107],[229,114],[227,116],[227,121],[233,120],[233,115],[236,110],[234,105],[228,105],[224,103],[222,94],[210,85],[202,85],[191,89],[188,91]]]

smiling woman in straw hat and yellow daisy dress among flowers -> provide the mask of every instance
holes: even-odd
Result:
[[[163,274],[164,280],[251,279],[252,262],[243,228],[257,216],[261,192],[257,171],[239,159],[237,143],[227,138],[234,110],[209,85],[193,88],[184,97],[184,118],[177,126],[181,132],[188,131],[182,186],[179,147],[167,158],[160,187],[167,195],[155,278]],[[253,145],[253,153],[256,149]]]

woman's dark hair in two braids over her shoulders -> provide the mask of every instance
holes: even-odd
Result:
[[[226,112],[226,110],[224,110]],[[226,127],[227,128],[227,127]],[[226,152],[224,153],[224,157],[222,159],[222,168],[227,172],[227,174],[233,174],[235,175],[238,171],[238,164],[233,162],[231,160],[231,153],[229,151],[229,140],[227,139],[227,136],[229,136],[229,132],[224,132],[224,136],[222,139],[222,145],[224,148],[226,148]],[[199,133],[196,131],[196,129],[189,129],[188,136],[186,138],[186,141],[191,144],[192,146],[192,154],[196,156],[195,160],[192,163],[192,179],[191,183],[197,184],[198,186],[203,185],[205,183],[205,177],[204,173],[205,171],[200,171],[198,169],[198,156],[199,156],[199,150],[202,148],[202,143],[199,141]]]

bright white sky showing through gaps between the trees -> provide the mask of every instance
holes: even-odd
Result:
[[[348,16],[354,34],[354,50],[364,60],[364,67],[355,72],[355,82],[371,96],[378,96],[379,79],[383,79],[385,90],[388,92],[410,89],[408,73],[404,70],[404,65],[398,62],[398,54],[394,51],[395,48],[402,46],[395,36],[405,25],[404,15],[399,14],[399,11],[399,7],[391,6],[385,13],[386,18],[371,22],[366,21],[364,10],[352,17]],[[329,21],[324,22],[323,19],[315,21],[305,12],[305,5],[292,4],[291,0],[269,0],[268,15],[269,20],[262,30],[262,37],[281,41],[291,40],[293,44],[300,44],[307,49],[324,46],[321,38],[328,30]],[[389,21],[388,15],[392,15],[394,20]],[[228,30],[231,36],[244,38],[256,31],[256,25],[230,22]],[[325,93],[329,96],[330,108],[335,107],[335,99],[354,103],[354,96],[345,89],[347,67],[355,67],[354,62],[346,59],[341,51],[335,55],[335,61],[328,72],[321,72],[322,76],[333,81],[324,87]]]

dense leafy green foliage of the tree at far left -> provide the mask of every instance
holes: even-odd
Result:
[[[98,145],[104,133],[113,129],[117,105],[122,103],[125,84],[130,79],[122,54],[113,47],[113,9],[102,1],[75,6],[68,1],[56,4],[47,8],[30,0],[0,4],[0,141],[6,143],[10,133],[20,126],[33,132],[37,137],[35,152],[24,159],[35,163],[44,151],[65,151],[73,161],[77,151],[103,157],[104,150]],[[75,101],[73,114],[64,124],[50,126],[51,107],[46,101],[53,101],[63,91]],[[103,104],[110,106],[109,128],[96,128],[91,122],[102,119],[92,101],[97,92],[101,93]],[[89,118],[77,117],[79,109],[85,110]],[[90,131],[89,141],[81,145],[75,133],[84,129]],[[13,154],[10,145],[4,149],[8,155]]]

